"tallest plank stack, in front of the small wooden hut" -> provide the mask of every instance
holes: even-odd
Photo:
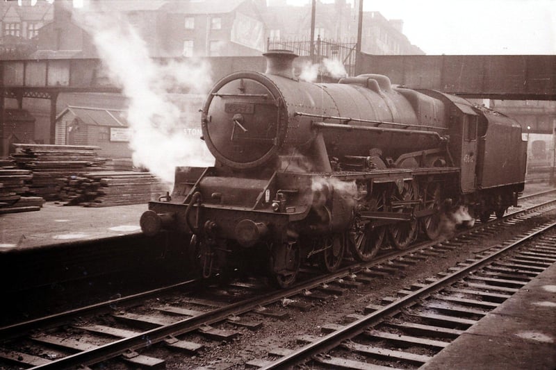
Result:
[[[98,146],[13,144],[10,155],[19,169],[33,171],[28,192],[47,201],[59,198],[58,178],[67,178],[81,172],[104,169],[104,158],[97,157]]]

